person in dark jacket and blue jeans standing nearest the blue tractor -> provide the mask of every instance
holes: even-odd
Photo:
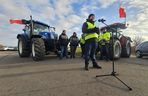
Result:
[[[62,34],[59,36],[59,44],[60,44],[60,59],[63,57],[68,58],[67,46],[68,46],[68,36],[66,35],[66,30],[63,30]]]

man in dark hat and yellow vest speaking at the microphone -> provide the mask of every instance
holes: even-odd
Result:
[[[95,15],[90,14],[82,26],[82,32],[85,34],[85,70],[89,70],[89,60],[91,59],[93,68],[102,67],[96,61],[96,49],[98,47],[99,28],[95,25]]]

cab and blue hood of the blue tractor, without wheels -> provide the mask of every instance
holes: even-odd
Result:
[[[34,35],[40,35],[44,39],[57,39],[54,27],[34,20],[32,20],[32,24],[30,20],[22,20],[22,22],[25,24],[23,31],[29,38]]]

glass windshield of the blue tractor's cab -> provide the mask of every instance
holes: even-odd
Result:
[[[34,23],[34,34],[38,34],[39,32],[49,32],[49,27],[41,24]]]

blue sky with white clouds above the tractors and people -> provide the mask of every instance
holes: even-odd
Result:
[[[0,44],[17,46],[17,34],[22,33],[23,25],[10,24],[10,19],[30,19],[44,22],[56,28],[60,34],[67,30],[82,34],[82,24],[89,14],[96,20],[106,19],[107,24],[124,22],[119,18],[119,6],[126,9],[128,28],[123,34],[134,38],[141,36],[148,41],[148,0],[0,0]],[[97,27],[103,26],[96,22]]]

